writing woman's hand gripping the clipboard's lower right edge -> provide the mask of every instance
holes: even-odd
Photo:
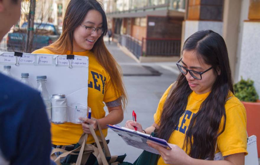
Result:
[[[184,165],[189,162],[189,159],[191,159],[189,155],[187,155],[179,146],[175,144],[168,143],[172,148],[171,150],[152,142],[147,142],[147,144],[148,146],[159,151],[165,164]]]

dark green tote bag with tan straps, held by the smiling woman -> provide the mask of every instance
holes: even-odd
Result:
[[[53,149],[51,152],[51,157],[54,159],[54,162],[58,165],[133,165],[131,163],[124,162],[126,154],[121,156],[111,156],[108,149],[108,144],[105,141],[105,137],[99,123],[98,129],[100,132],[100,137],[96,135],[94,128],[90,125],[90,132],[95,139],[95,145],[86,144],[87,134],[83,133],[79,139],[79,142],[75,145],[74,150],[66,151],[59,148]],[[103,147],[101,144],[103,144]],[[56,157],[55,152],[62,152],[63,154]],[[61,158],[65,157],[66,161],[61,163]]]

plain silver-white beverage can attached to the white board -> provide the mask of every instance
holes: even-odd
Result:
[[[55,124],[67,122],[67,99],[63,94],[51,97],[51,122]]]

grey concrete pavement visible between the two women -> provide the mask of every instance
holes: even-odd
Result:
[[[178,74],[175,63],[138,63],[122,52],[115,43],[111,42],[107,47],[113,54],[119,65],[121,65],[124,76],[124,83],[128,93],[128,105],[124,113],[124,121],[119,123],[124,126],[127,120],[132,120],[132,110],[137,113],[137,121],[147,128],[154,122],[153,115],[164,91],[176,80]],[[161,75],[153,75],[151,70],[160,72]],[[168,69],[166,69],[168,68]],[[147,74],[147,75],[144,75]],[[131,76],[130,76],[131,75]],[[123,139],[114,131],[108,129],[110,140],[108,144],[112,155],[127,154],[125,161],[134,162],[142,153],[141,149],[126,145]]]

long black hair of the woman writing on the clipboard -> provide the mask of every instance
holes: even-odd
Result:
[[[191,121],[183,144],[189,155],[196,159],[213,159],[217,137],[225,130],[225,102],[229,91],[233,92],[228,51],[224,39],[212,30],[199,31],[186,39],[182,51],[194,50],[198,58],[211,65],[217,75],[209,96],[201,104]],[[220,73],[220,74],[218,74]],[[180,74],[176,88],[165,101],[157,136],[169,140],[186,110],[189,88],[186,77]],[[224,125],[220,126],[224,117]],[[170,130],[170,131],[169,131]],[[219,130],[221,130],[219,132]]]

